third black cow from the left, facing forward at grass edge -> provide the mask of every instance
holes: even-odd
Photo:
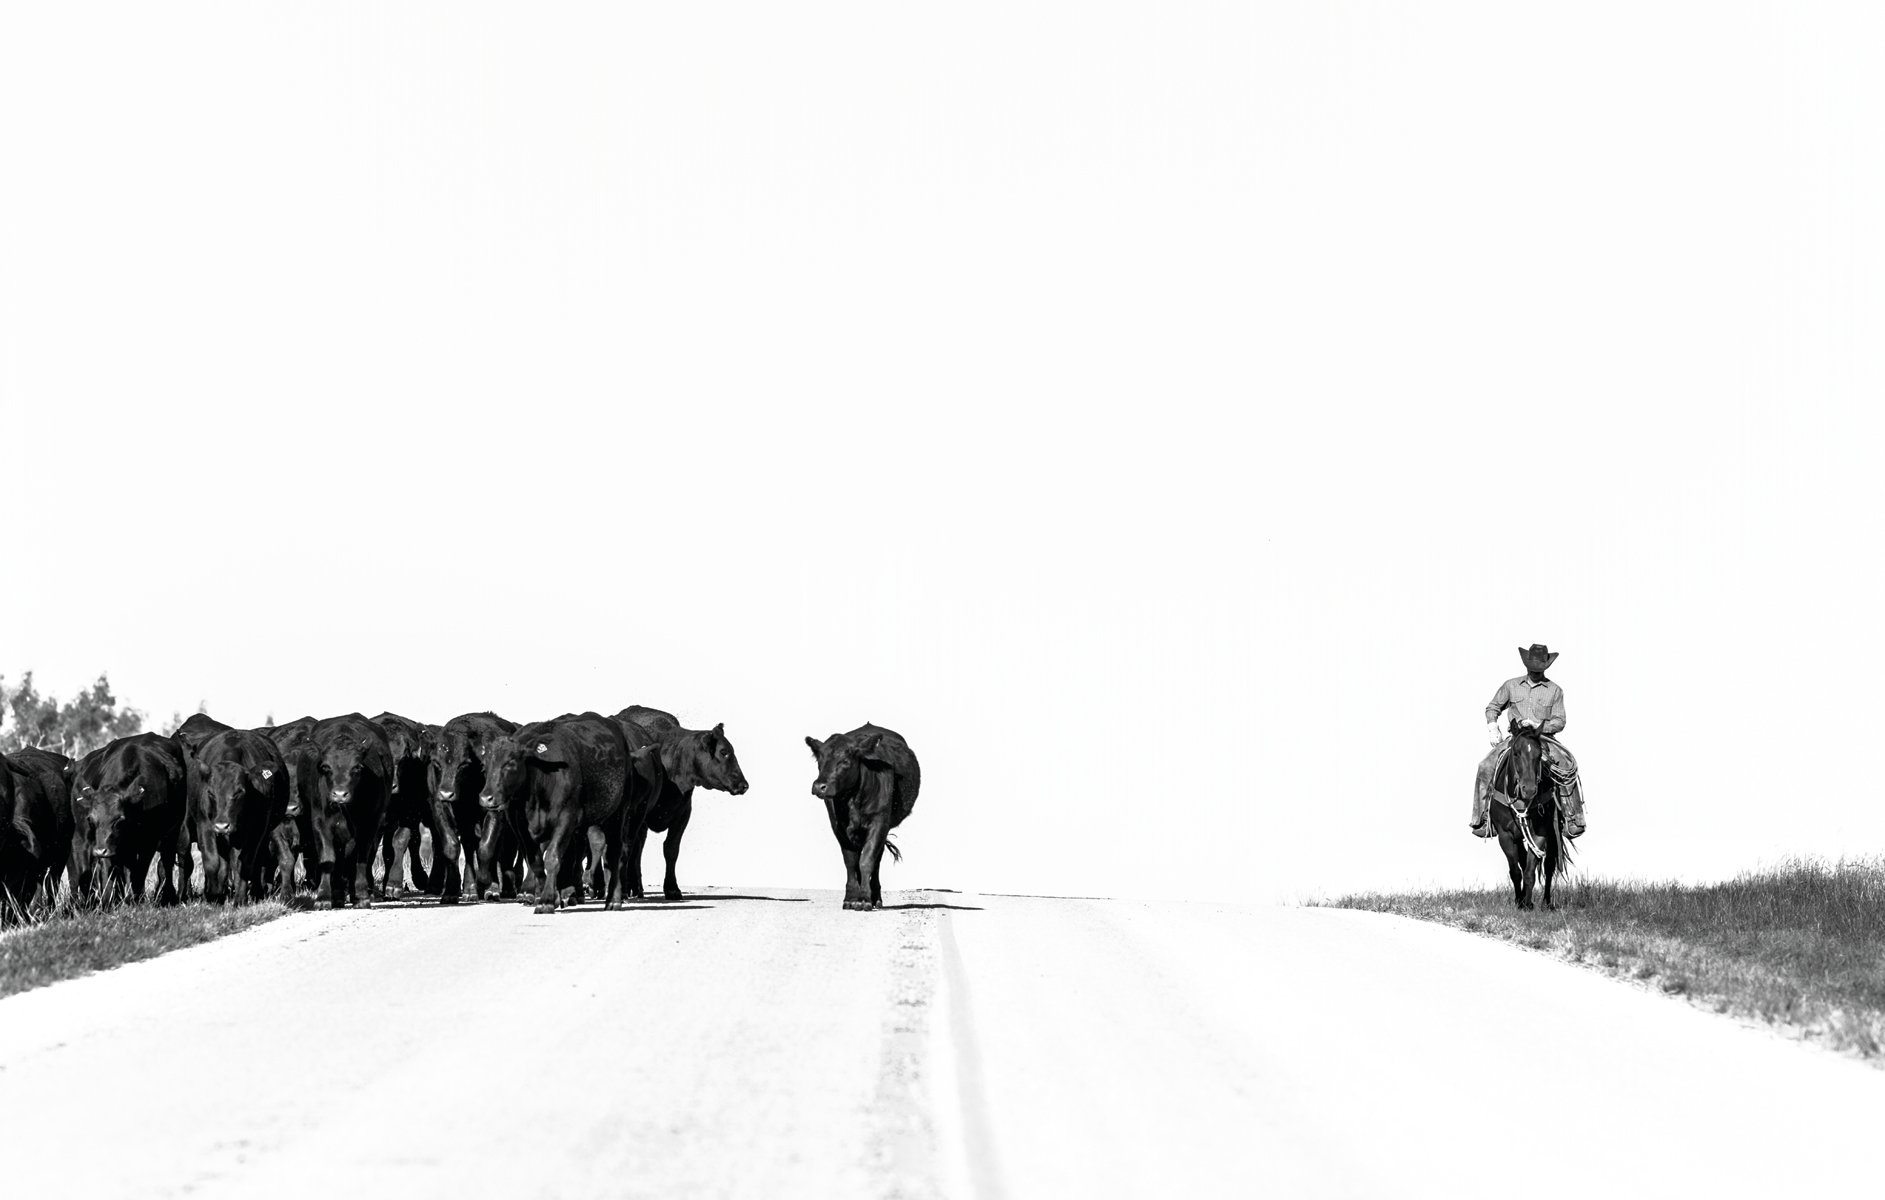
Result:
[[[190,770],[190,823],[204,851],[204,897],[217,904],[266,895],[264,872],[271,865],[270,835],[288,812],[288,769],[266,735],[224,729],[196,748]],[[283,902],[294,899],[292,870],[275,861],[275,887]],[[288,885],[283,887],[283,878]]]

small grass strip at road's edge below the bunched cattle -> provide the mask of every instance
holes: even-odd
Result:
[[[55,912],[36,925],[0,932],[0,997],[213,942],[285,912],[277,900],[241,908],[198,900],[173,908],[124,904]]]

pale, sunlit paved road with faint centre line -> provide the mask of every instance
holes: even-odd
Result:
[[[11,997],[0,1187],[1876,1189],[1885,1072],[1540,955],[1374,914],[892,900],[302,914]]]

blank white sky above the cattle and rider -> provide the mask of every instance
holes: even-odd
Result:
[[[724,720],[682,884],[1885,846],[1885,17],[1804,4],[0,9],[0,671],[155,718]],[[652,861],[652,855],[650,855]]]

